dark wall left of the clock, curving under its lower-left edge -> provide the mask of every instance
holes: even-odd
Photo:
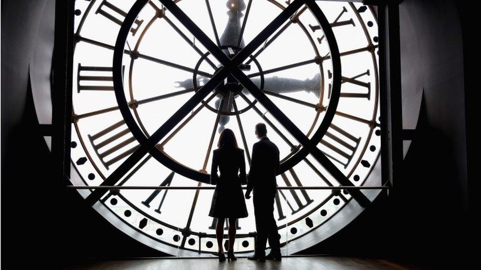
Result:
[[[52,269],[83,258],[162,256],[114,228],[54,178],[33,101],[48,87],[54,4],[1,1],[1,264]],[[42,123],[48,123],[51,104],[43,105]]]

